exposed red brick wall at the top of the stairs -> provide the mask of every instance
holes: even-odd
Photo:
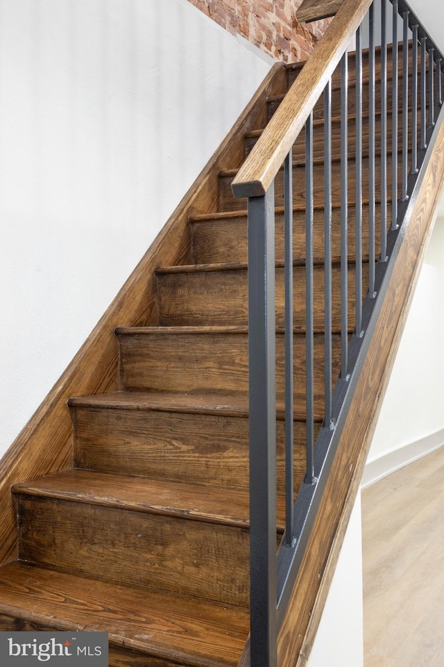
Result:
[[[233,35],[239,34],[276,60],[307,60],[329,19],[300,24],[302,0],[189,0]]]

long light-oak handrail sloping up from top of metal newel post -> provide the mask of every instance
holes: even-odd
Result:
[[[371,3],[344,0],[232,182],[236,197],[265,195]]]

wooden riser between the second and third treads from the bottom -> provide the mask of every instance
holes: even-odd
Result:
[[[74,465],[187,484],[248,488],[248,418],[155,410],[71,408]],[[316,424],[316,433],[319,425]],[[294,424],[294,482],[305,474],[305,422]],[[284,420],[276,420],[278,495],[284,494]]]

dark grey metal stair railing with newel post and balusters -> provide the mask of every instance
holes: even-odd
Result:
[[[332,154],[331,78],[324,95],[325,122],[325,418],[314,443],[314,261],[313,114],[305,123],[306,186],[306,354],[307,467],[296,503],[293,498],[293,256],[292,154],[284,162],[285,333],[286,333],[286,529],[276,553],[276,387],[275,387],[275,226],[274,184],[264,195],[248,197],[248,327],[250,363],[250,659],[252,667],[275,667],[279,629],[314,525],[348,407],[361,372],[386,286],[434,144],[443,113],[443,56],[404,0],[393,6],[391,81],[391,160],[387,160],[386,5],[375,0],[368,12],[369,79],[369,276],[363,297],[362,254],[362,49],[357,28],[356,55],[356,216],[355,330],[348,331],[348,54],[341,58],[341,372],[332,378]],[[381,3],[381,188],[375,189],[375,32],[374,10]],[[398,15],[402,18],[402,182],[398,183]],[[411,33],[411,37],[410,37]],[[409,41],[411,71],[409,79]],[[418,71],[419,66],[419,71]],[[419,85],[418,85],[419,76]],[[409,85],[410,84],[410,85]],[[409,97],[410,96],[410,97]],[[409,117],[408,103],[412,101]],[[316,104],[316,102],[314,103]],[[314,105],[313,105],[314,106]],[[409,132],[409,120],[411,128]],[[419,120],[419,132],[418,132]],[[436,136],[436,135],[435,135]],[[411,142],[411,149],[408,143]],[[391,165],[388,165],[388,162]],[[391,170],[388,169],[391,167]],[[410,168],[409,168],[410,167]],[[386,176],[391,173],[391,220],[386,220]],[[235,189],[234,189],[235,191]],[[376,261],[375,207],[381,206],[379,258]],[[389,224],[388,224],[389,222]]]

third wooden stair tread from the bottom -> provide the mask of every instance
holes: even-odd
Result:
[[[71,397],[70,406],[103,407],[121,410],[159,410],[173,412],[198,412],[203,414],[234,415],[248,417],[248,396],[221,393],[176,393],[150,391],[116,391],[103,394]],[[284,406],[277,403],[277,418],[284,416]],[[305,421],[303,406],[294,415],[295,420]],[[323,415],[315,415],[321,422]]]

